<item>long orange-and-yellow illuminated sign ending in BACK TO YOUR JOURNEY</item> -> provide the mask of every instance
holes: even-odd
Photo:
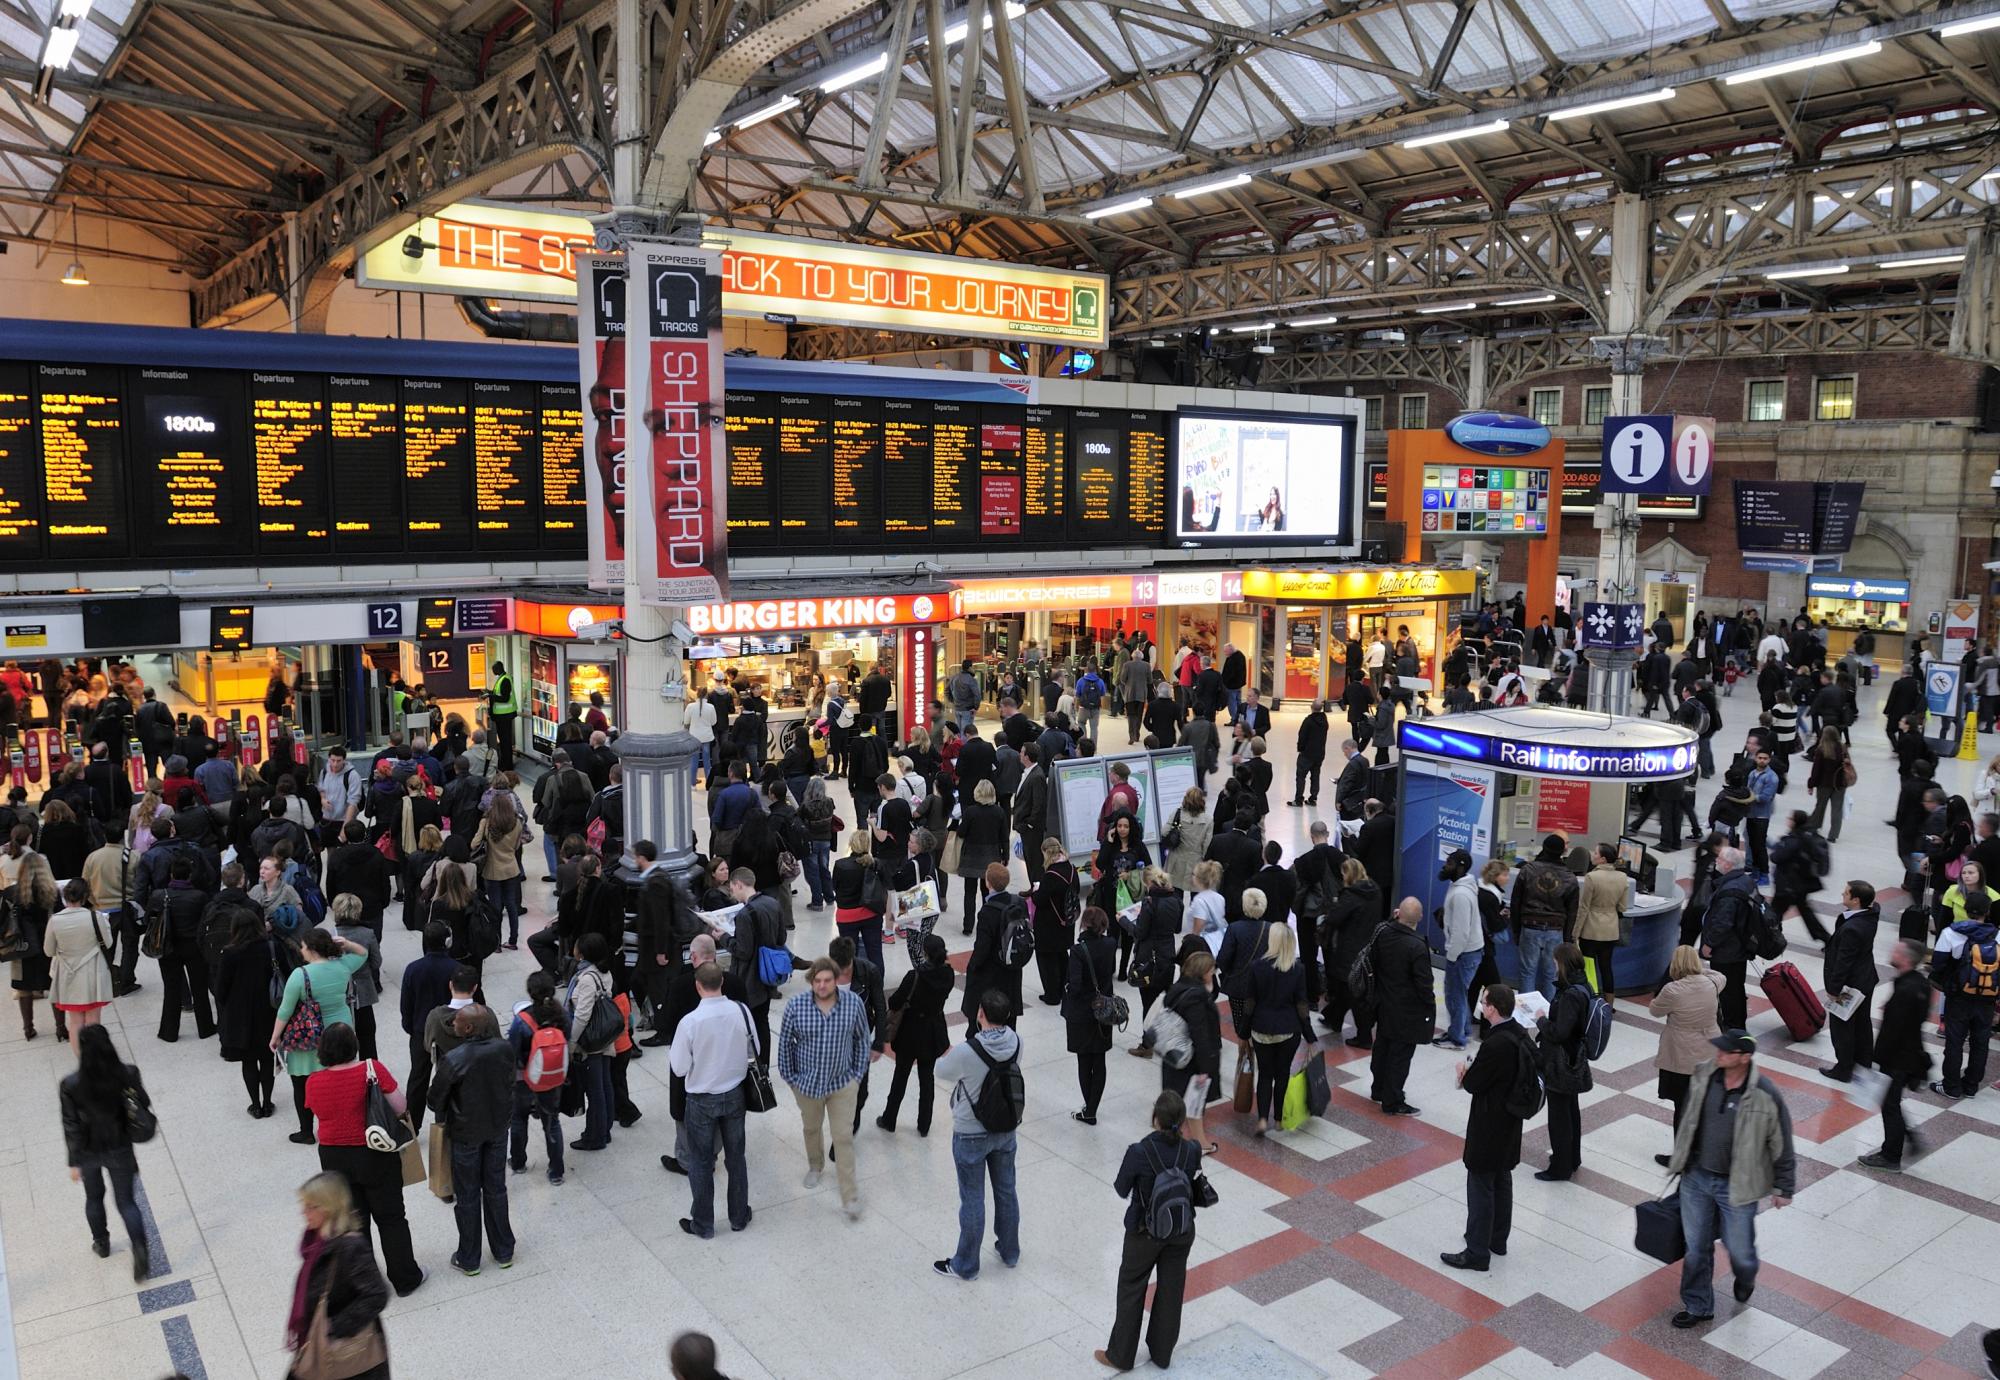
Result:
[[[596,232],[584,216],[454,202],[362,254],[356,282],[406,292],[574,302],[576,254],[594,242]],[[722,250],[722,310],[728,316],[1110,344],[1110,280],[1104,274],[722,226],[706,228],[702,244]]]

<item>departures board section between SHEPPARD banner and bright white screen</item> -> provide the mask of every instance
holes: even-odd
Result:
[[[730,546],[1158,546],[1164,412],[728,394]]]

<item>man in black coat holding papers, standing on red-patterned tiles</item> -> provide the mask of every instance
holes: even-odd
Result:
[[[1484,1270],[1496,1254],[1506,1254],[1524,1120],[1508,1104],[1514,1090],[1534,1078],[1534,1044],[1514,1020],[1514,988],[1488,984],[1480,1016],[1486,1020],[1480,1052],[1458,1060],[1458,1086],[1472,1094],[1472,1116],[1466,1118],[1466,1150],[1460,1156],[1466,1166],[1466,1248],[1440,1256],[1454,1270]]]

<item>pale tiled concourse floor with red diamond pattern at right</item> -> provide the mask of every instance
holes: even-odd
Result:
[[[1834,886],[1846,876],[1892,886],[1900,868],[1888,814],[1890,764],[1874,704],[1856,730],[1862,788],[1834,846]],[[1754,700],[1724,700],[1738,730]],[[1290,778],[1292,714],[1280,716],[1278,782]],[[1114,730],[1116,738],[1116,730]],[[1944,780],[1968,790],[1970,762]],[[1810,804],[1794,772],[1784,808]],[[1282,796],[1284,792],[1274,792]],[[1702,800],[1706,802],[1706,788]],[[1298,846],[1306,812],[1278,808],[1274,836]],[[1780,826],[1782,828],[1782,826]],[[1686,854],[1682,854],[1686,858]],[[530,926],[548,914],[548,888]],[[1838,892],[1822,894],[1822,906]],[[1902,908],[1884,896],[1884,914]],[[800,952],[830,936],[830,916],[804,912]],[[946,924],[962,948],[956,924]],[[1792,924],[1794,958],[1818,976],[1818,946]],[[1884,926],[1880,956],[1894,940]],[[394,918],[394,976],[416,940]],[[904,960],[890,950],[890,982]],[[526,954],[494,964],[498,996],[512,1000]],[[1036,980],[1028,980],[1030,994]],[[384,998],[394,1010],[394,992]],[[252,1122],[236,1070],[214,1046],[152,1040],[158,982],[110,1014],[122,1048],[154,1090],[162,1132],[140,1150],[146,1200],[162,1252],[136,1286],[120,1246],[88,1252],[80,1192],[68,1182],[54,1084],[70,1056],[44,1034],[20,1040],[0,1012],[0,1300],[10,1306],[18,1374],[158,1376],[180,1366],[210,1380],[284,1374],[284,1312],[296,1264],[292,1188],[316,1160],[284,1140],[288,1120]],[[46,1014],[42,1018],[46,1028]],[[1816,1076],[1824,1036],[1792,1044],[1762,1000],[1752,1028],[1764,1068],[1798,1120],[1798,1200],[1760,1218],[1764,1258],[1756,1298],[1728,1302],[1702,1332],[1676,1332],[1678,1270],[1632,1252],[1632,1204],[1662,1188],[1652,1156],[1668,1146],[1668,1110],[1652,1098],[1656,1022],[1642,1002],[1620,1002],[1598,1088],[1584,1106],[1584,1172],[1540,1184],[1530,1172],[1546,1132],[1530,1126],[1532,1162],[1516,1172],[1512,1250],[1490,1274],[1438,1264],[1458,1246],[1464,1176],[1458,1132],[1466,1098],[1452,1056],[1422,1048],[1410,1098],[1416,1120],[1386,1120],[1366,1100],[1366,1060],[1328,1050],[1334,1102],[1312,1126],[1252,1140],[1216,1104],[1222,1154],[1210,1176],[1222,1204],[1202,1214],[1192,1256],[1182,1346],[1188,1376],[1808,1376],[1928,1378],[1980,1374],[1978,1334],[2000,1322],[2000,1094],[1952,1108],[1930,1094],[1906,1106],[1932,1150],[1900,1178],[1856,1166],[1878,1144],[1872,1108],[1856,1108]],[[1100,1374],[1120,1244],[1122,1204],[1110,1178],[1124,1144],[1144,1130],[1158,1070],[1112,1056],[1100,1126],[1070,1120],[1078,1104],[1062,1024],[1030,1002],[1022,1022],[1028,1124],[1020,1132],[1022,1266],[988,1268],[962,1284],[930,1274],[956,1232],[956,1190],[944,1140],[914,1116],[886,1136],[864,1122],[858,1172],[866,1214],[846,1222],[832,1184],[802,1190],[804,1154],[790,1108],[752,1118],[750,1174],[756,1222],[714,1242],[682,1236],[686,1182],[668,1178],[672,1146],[666,1060],[632,1068],[646,1108],[614,1148],[572,1156],[562,1188],[530,1172],[510,1180],[520,1256],[514,1270],[466,1280],[446,1268],[450,1212],[422,1188],[408,1206],[432,1278],[388,1314],[398,1376],[520,1376],[560,1364],[578,1374],[660,1376],[666,1342],[684,1328],[712,1332],[732,1376],[978,1376],[1064,1380]],[[1132,1032],[1120,1040],[1130,1042]],[[392,1068],[400,1036],[386,1034]],[[878,1072],[874,1100],[886,1090]],[[280,1092],[282,1100],[282,1092]],[[1990,1102],[1990,1106],[1988,1106]],[[574,1134],[574,1130],[572,1130]],[[992,1266],[992,1262],[988,1262]],[[1726,1274],[1726,1264],[1722,1266]],[[0,1332],[0,1380],[16,1374]]]

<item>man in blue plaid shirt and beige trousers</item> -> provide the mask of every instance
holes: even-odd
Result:
[[[832,1122],[840,1206],[852,1220],[862,1214],[854,1186],[854,1096],[870,1060],[882,1052],[868,1048],[868,1006],[840,988],[834,960],[814,958],[806,972],[812,990],[784,1004],[778,1026],[778,1076],[792,1086],[806,1124],[806,1188],[820,1186],[826,1168],[820,1122]]]

